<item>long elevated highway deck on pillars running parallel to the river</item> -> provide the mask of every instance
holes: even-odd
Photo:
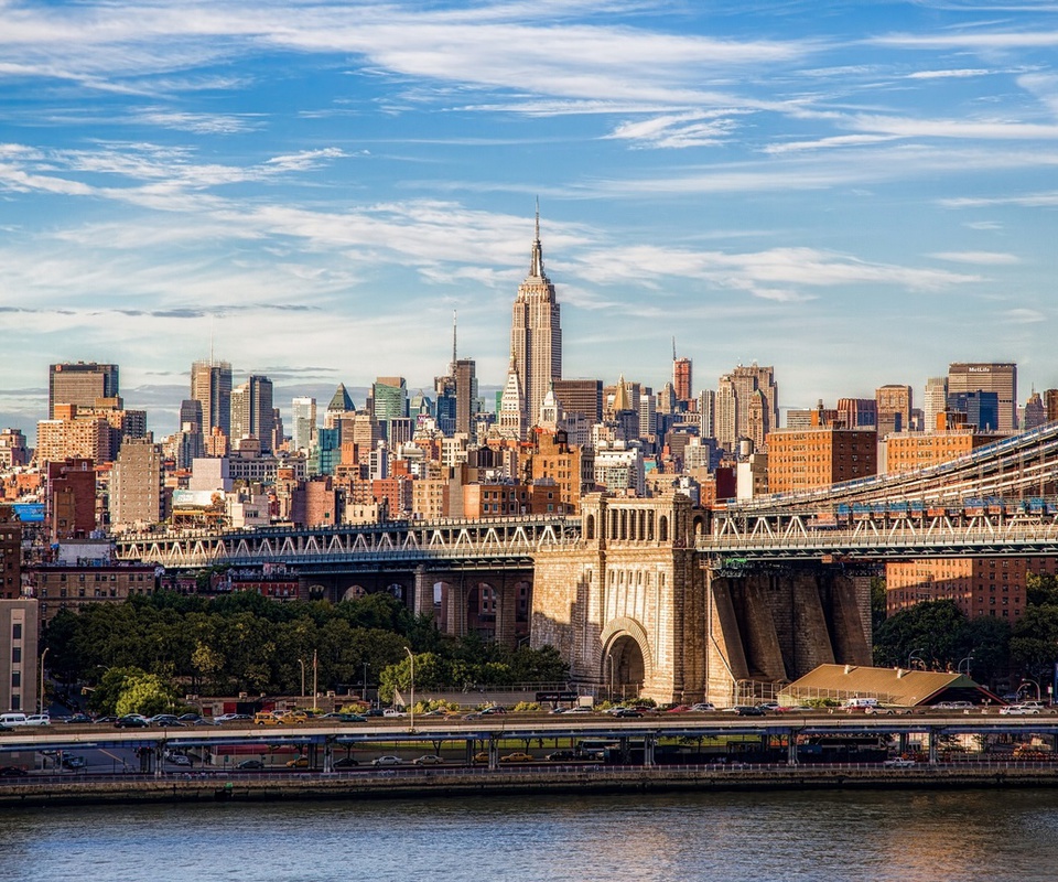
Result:
[[[410,720],[396,723],[328,724],[313,722],[300,727],[239,728],[190,727],[181,729],[116,730],[98,725],[53,725],[47,730],[29,727],[0,733],[0,754],[14,751],[76,751],[87,749],[151,746],[156,755],[164,750],[190,747],[219,747],[231,745],[314,745],[330,754],[334,746],[366,746],[370,744],[424,745],[439,742],[465,742],[467,760],[475,742],[488,746],[489,765],[498,762],[500,741],[593,740],[641,741],[654,745],[666,739],[705,739],[757,736],[782,739],[796,744],[798,739],[811,736],[878,735],[908,736],[930,734],[930,762],[937,762],[936,745],[944,735],[982,734],[1025,738],[1032,734],[1058,739],[1058,713],[1033,717],[1005,717],[994,711],[982,713],[920,713],[907,716],[860,716],[843,711],[834,713],[777,713],[764,718],[739,717],[728,713],[670,714],[638,719],[553,719],[536,714],[496,714],[482,720]],[[790,764],[796,763],[791,752]],[[649,764],[649,761],[647,762]],[[325,760],[324,768],[330,762]]]

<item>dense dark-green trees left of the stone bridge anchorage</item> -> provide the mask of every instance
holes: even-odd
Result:
[[[108,673],[125,671],[158,678],[181,696],[300,695],[303,682],[311,695],[314,674],[321,693],[359,691],[366,665],[368,681],[388,698],[410,685],[408,648],[415,654],[417,687],[471,689],[568,677],[553,649],[451,638],[386,593],[331,604],[277,603],[250,592],[208,600],[162,591],[60,612],[44,643],[50,668],[67,682],[99,688]],[[117,700],[104,688],[91,704],[114,712]]]

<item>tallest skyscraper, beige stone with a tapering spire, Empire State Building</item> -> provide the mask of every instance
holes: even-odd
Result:
[[[540,415],[540,404],[551,388],[551,381],[562,377],[559,304],[554,286],[543,270],[539,208],[529,275],[518,286],[518,295],[515,298],[510,351],[515,356],[518,385],[526,398],[525,423],[531,427]]]

